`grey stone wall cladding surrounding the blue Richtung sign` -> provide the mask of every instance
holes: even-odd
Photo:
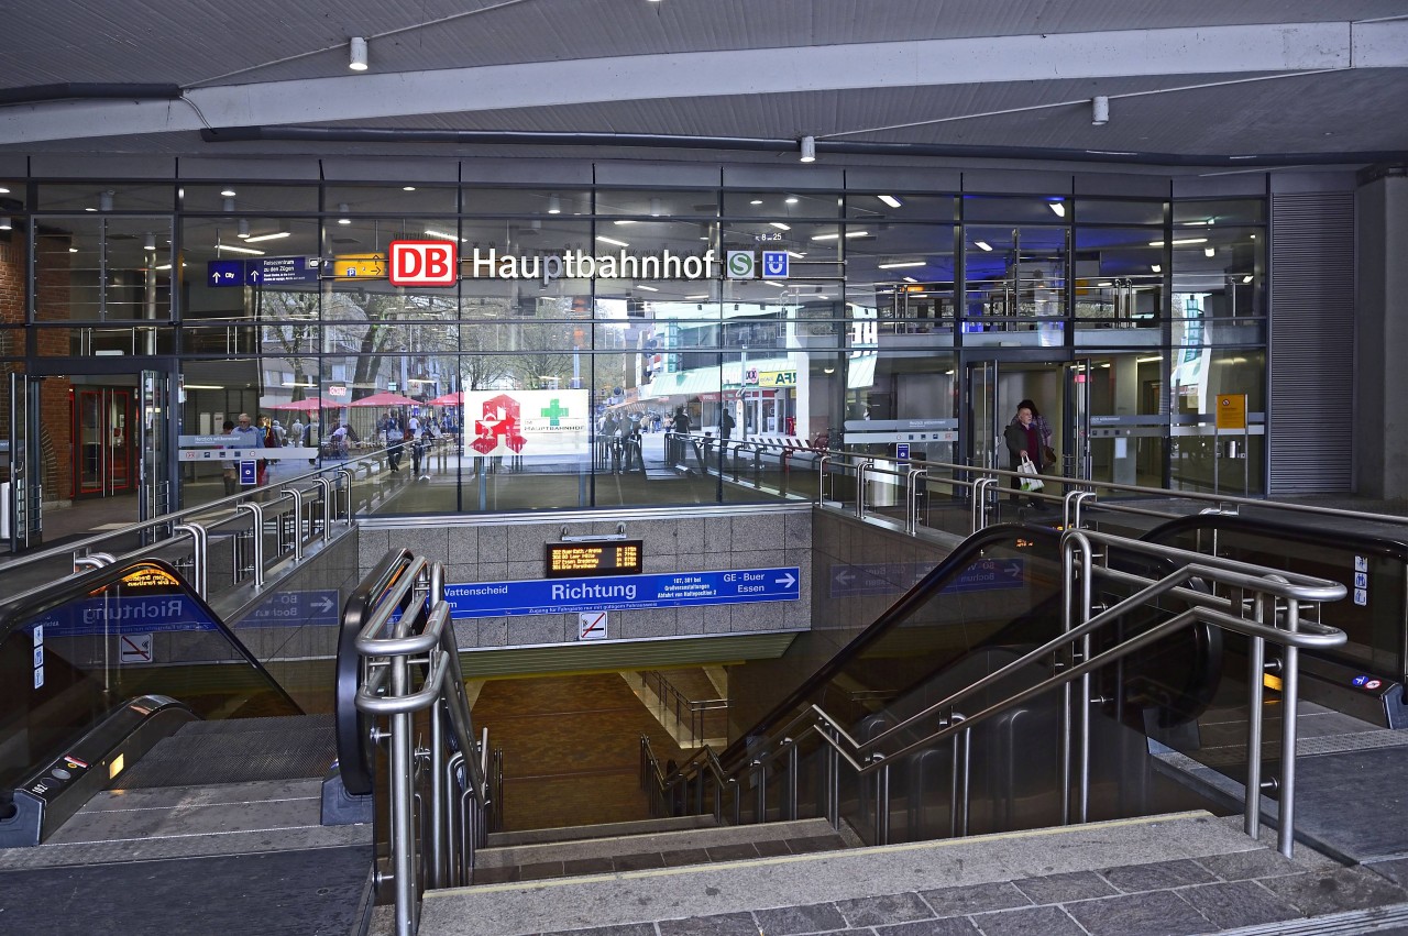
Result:
[[[794,631],[811,626],[812,517],[791,512],[649,517],[590,522],[542,519],[517,525],[444,525],[408,522],[404,529],[363,532],[363,569],[390,546],[408,546],[446,564],[446,581],[520,581],[543,577],[543,545],[570,536],[615,533],[625,524],[629,539],[642,540],[646,573],[727,571],[735,569],[796,567],[800,601],[736,605],[698,605],[614,611],[612,639],[650,639],[704,633]],[[456,622],[462,646],[527,646],[577,639],[577,616],[535,615]]]

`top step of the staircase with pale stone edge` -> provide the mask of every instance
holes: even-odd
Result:
[[[939,926],[962,928],[969,925],[963,916],[1010,908],[1031,913],[1025,929],[1042,932],[1038,912],[1062,919],[1067,909],[1101,912],[1114,919],[1142,912],[1149,904],[1167,905],[1163,912],[1171,908],[1191,915],[1190,921],[1198,912],[1193,906],[1217,915],[1226,901],[1240,899],[1236,895],[1242,888],[1264,898],[1252,884],[1262,878],[1270,881],[1266,891],[1276,899],[1264,898],[1256,909],[1283,913],[1280,919],[1316,912],[1298,902],[1301,891],[1295,888],[1314,897],[1326,888],[1356,887],[1373,891],[1376,905],[1408,897],[1363,868],[1342,868],[1325,859],[1318,866],[1300,863],[1302,856],[1315,857],[1298,850],[1298,861],[1288,861],[1233,823],[1194,811],[970,839],[432,891],[425,895],[420,933],[521,936],[586,928],[653,932],[650,925],[665,919],[689,921],[672,925],[669,932],[859,933],[872,932],[870,926],[942,918],[959,919]],[[1198,888],[1208,890],[1194,894]],[[1205,901],[1193,904],[1184,897]],[[1098,906],[1093,902],[1097,899]],[[1369,905],[1367,898],[1362,905]],[[1207,932],[1252,922],[1228,918],[1214,925],[1209,919],[1197,916],[1197,925],[1176,921],[1170,926]],[[1018,923],[1015,918],[1011,922]],[[1114,923],[1105,929],[1115,932]]]

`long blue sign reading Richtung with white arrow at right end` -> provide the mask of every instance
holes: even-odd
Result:
[[[800,597],[801,570],[796,566],[445,586],[452,618],[797,601]]]

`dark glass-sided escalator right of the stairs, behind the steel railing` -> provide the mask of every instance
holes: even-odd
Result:
[[[1111,563],[1145,578],[1171,571],[1156,557]],[[669,780],[666,799],[677,811],[703,811],[731,798],[728,808],[739,822],[797,818],[791,815],[796,809],[822,815],[819,804],[836,799],[838,818],[870,843],[1060,825],[1073,809],[1088,819],[1215,809],[1149,757],[1150,738],[1174,738],[1215,697],[1222,643],[1219,632],[1202,624],[1153,642],[1093,677],[1097,702],[1090,707],[1088,797],[1079,807],[1064,783],[1070,767],[1063,753],[1067,712],[1074,708],[1060,691],[966,732],[962,753],[956,742],[918,752],[908,747],[918,735],[897,726],[1063,633],[1070,624],[1064,619],[1063,583],[1057,531],[1001,525],[970,536],[812,677],[748,731],[734,735],[738,740],[718,754],[712,769],[705,757],[686,764]],[[1135,590],[1102,578],[1094,600],[1110,607]],[[1086,656],[1104,649],[1101,642],[1135,636],[1184,608],[1177,595],[1164,595],[1132,609]],[[818,635],[814,628],[812,639],[824,639],[824,625],[819,629]],[[1069,652],[1057,652],[1010,671],[966,698],[956,715],[987,709],[1076,662]],[[781,660],[786,664],[787,657]],[[900,757],[883,781],[881,795],[890,804],[884,816],[874,805],[879,781],[845,770],[838,780],[832,745],[818,733],[796,743],[788,739],[793,750],[786,760],[760,754],[818,709],[825,725],[862,746],[877,745],[872,757],[887,757],[887,752]],[[942,725],[953,715],[941,712],[931,721]],[[705,792],[710,770],[735,777],[735,787],[721,784]],[[828,795],[828,785],[838,794]],[[959,790],[962,809],[956,807]],[[877,822],[880,818],[884,821]]]

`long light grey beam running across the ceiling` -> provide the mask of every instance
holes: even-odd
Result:
[[[629,55],[191,89],[0,110],[7,144],[731,94],[1408,68],[1408,21],[1281,23]],[[783,132],[794,128],[780,128]]]

